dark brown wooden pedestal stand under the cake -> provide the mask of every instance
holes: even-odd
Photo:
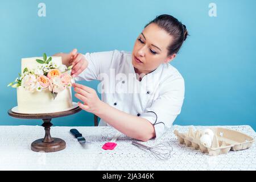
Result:
[[[64,117],[67,115],[75,114],[81,111],[79,106],[68,111],[62,111],[58,113],[49,113],[49,114],[19,114],[13,112],[9,109],[8,114],[14,118],[20,119],[43,119],[43,127],[46,131],[44,138],[37,139],[31,143],[31,150],[35,152],[56,152],[63,150],[66,147],[66,142],[60,138],[52,138],[50,134],[50,129],[52,126],[52,118]]]

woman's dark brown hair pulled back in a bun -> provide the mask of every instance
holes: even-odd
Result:
[[[157,24],[172,36],[173,42],[168,46],[168,56],[177,53],[188,36],[186,26],[174,18],[174,16],[167,14],[156,16],[156,18],[146,24],[144,28],[151,23]]]

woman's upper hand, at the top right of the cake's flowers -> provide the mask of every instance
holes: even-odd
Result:
[[[77,53],[77,49],[73,49],[69,55],[71,57],[69,64],[73,65],[71,75],[72,77],[76,77],[82,71],[84,71],[85,68],[87,68],[88,61],[85,59],[84,55]]]

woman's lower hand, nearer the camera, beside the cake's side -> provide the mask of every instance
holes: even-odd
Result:
[[[93,114],[100,110],[102,101],[94,89],[81,84],[73,84],[73,87],[76,92],[75,97],[84,103],[78,102],[81,109]]]

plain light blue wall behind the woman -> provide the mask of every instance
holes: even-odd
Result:
[[[46,17],[38,4],[46,4]],[[208,15],[209,3],[217,17]],[[171,14],[189,34],[172,65],[185,80],[178,125],[250,125],[256,129],[256,1],[0,1],[0,125],[41,125],[9,117],[16,90],[7,88],[22,57],[79,52],[132,51],[143,27]],[[97,81],[83,82],[97,88]],[[73,98],[77,101],[76,98]],[[93,114],[53,119],[56,126],[92,126]]]

